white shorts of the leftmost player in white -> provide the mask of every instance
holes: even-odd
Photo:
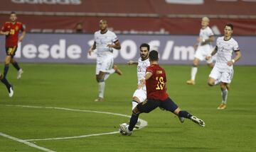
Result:
[[[96,75],[100,74],[100,71],[107,72],[113,68],[114,64],[114,57],[97,57],[97,64],[96,64]]]

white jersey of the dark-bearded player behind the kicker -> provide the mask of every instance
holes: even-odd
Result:
[[[148,66],[150,66],[149,58],[142,61],[142,58],[140,57],[137,66],[138,84],[140,83],[140,80],[142,80],[142,78],[145,76],[146,68]]]

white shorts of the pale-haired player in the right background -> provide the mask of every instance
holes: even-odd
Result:
[[[208,64],[213,63],[212,57],[206,60],[206,57],[213,51],[213,48],[210,45],[203,45],[198,46],[196,49],[195,58],[199,59],[200,61],[206,61]]]

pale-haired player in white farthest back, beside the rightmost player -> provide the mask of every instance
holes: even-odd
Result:
[[[202,28],[198,37],[198,47],[193,59],[193,66],[191,69],[191,79],[186,81],[187,84],[196,84],[196,73],[198,71],[198,64],[201,61],[206,60],[206,56],[212,51],[211,42],[214,41],[213,31],[208,27],[209,18],[203,17],[201,21]],[[206,60],[208,66],[213,68],[213,59],[209,58]]]

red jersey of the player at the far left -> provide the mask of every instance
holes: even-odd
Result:
[[[22,23],[16,22],[6,22],[4,23],[4,26],[1,28],[1,31],[7,32],[9,31],[9,35],[6,35],[6,47],[14,47],[18,45],[18,33],[25,28],[23,27]]]

